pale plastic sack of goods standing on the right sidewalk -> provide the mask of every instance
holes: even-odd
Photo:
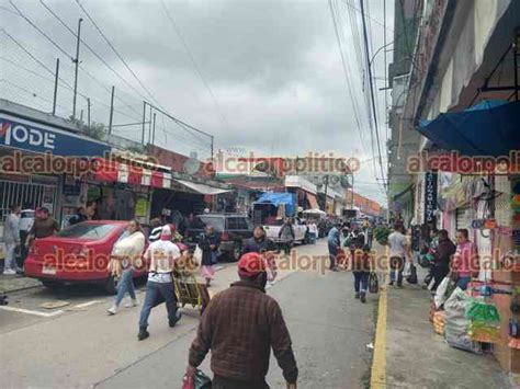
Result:
[[[466,310],[470,304],[471,297],[466,296],[461,288],[456,288],[444,302],[444,337],[452,347],[481,353],[479,343],[467,335],[470,319],[466,317]]]

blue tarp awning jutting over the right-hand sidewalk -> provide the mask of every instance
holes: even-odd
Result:
[[[486,100],[421,121],[418,130],[439,148],[463,156],[508,156],[520,149],[520,102]]]

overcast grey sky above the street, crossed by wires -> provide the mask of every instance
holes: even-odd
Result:
[[[0,96],[49,112],[54,88],[49,70],[54,71],[59,57],[63,81],[57,114],[70,116],[75,36],[39,0],[12,1],[65,53],[18,16],[9,0],[0,0],[0,28],[4,28],[0,30]],[[334,152],[357,157],[366,162],[357,175],[354,190],[385,203],[371,160],[371,134],[348,13],[349,7],[359,9],[359,1],[336,2],[363,142],[357,129],[328,0],[165,0],[199,71],[160,0],[80,0],[155,101],[172,115],[214,135],[216,149],[261,156]],[[117,110],[114,124],[142,121],[143,100],[150,101],[151,96],[103,41],[76,0],[44,0],[44,3],[74,31],[78,19],[83,18],[82,38],[114,70],[81,46],[78,91],[91,99],[92,121],[108,125],[112,85],[115,85]],[[383,0],[366,0],[365,8],[371,16],[374,53],[384,43]],[[393,39],[393,11],[394,1],[387,0],[387,42]],[[353,12],[361,23],[359,10]],[[392,53],[387,61],[392,61]],[[383,78],[383,53],[374,64],[373,76]],[[384,80],[378,79],[377,88],[383,84]],[[78,98],[78,115],[83,110],[86,119],[83,96]],[[385,155],[382,91],[377,90],[377,99]],[[140,125],[115,127],[114,133],[139,140],[140,128]],[[157,116],[156,134],[159,146],[167,145],[183,153],[208,153],[207,139],[186,133],[162,115]]]

